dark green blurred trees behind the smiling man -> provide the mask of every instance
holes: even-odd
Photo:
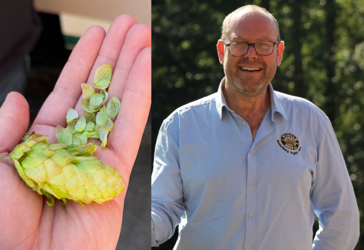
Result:
[[[223,77],[216,51],[222,21],[246,4],[266,8],[280,25],[285,50],[273,88],[310,100],[330,118],[363,225],[363,0],[153,0],[153,152],[160,125],[174,109],[217,91]],[[364,249],[364,227],[361,231],[357,250]],[[172,249],[177,235],[158,249]]]

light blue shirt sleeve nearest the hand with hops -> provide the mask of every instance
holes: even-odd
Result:
[[[159,246],[174,233],[184,213],[179,165],[179,123],[166,120],[154,153],[151,186],[151,245]]]

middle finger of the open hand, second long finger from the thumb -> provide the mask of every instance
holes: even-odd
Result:
[[[116,61],[119,57],[121,48],[124,45],[125,37],[127,36],[129,29],[135,23],[136,20],[130,15],[121,15],[115,18],[102,42],[99,54],[86,83],[91,86],[94,85],[92,81],[94,79],[96,69],[105,63],[110,64],[114,72]],[[82,99],[83,98],[80,97],[75,108],[79,113],[84,113],[84,110],[81,107]]]

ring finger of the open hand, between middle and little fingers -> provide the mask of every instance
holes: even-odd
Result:
[[[136,57],[144,48],[150,47],[150,43],[151,31],[149,26],[139,23],[129,30],[108,89],[109,98],[112,96],[122,98],[126,81]]]

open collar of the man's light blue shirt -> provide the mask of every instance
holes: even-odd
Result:
[[[220,84],[219,84],[219,88],[217,90],[217,94],[216,94],[216,110],[217,110],[217,113],[220,117],[220,120],[222,120],[222,110],[223,110],[223,107],[226,107],[228,109],[228,106],[226,104],[226,100],[225,100],[225,97],[224,97],[224,94],[222,92],[222,85],[225,84],[225,77],[222,78]],[[278,112],[280,113],[284,119],[286,121],[287,120],[287,113],[285,112],[284,108],[283,108],[283,105],[281,103],[281,100],[280,98],[278,97],[277,93],[273,90],[273,87],[272,87],[272,84],[269,83],[268,85],[268,88],[269,88],[269,93],[270,93],[270,107],[271,107],[271,110],[272,110],[272,121],[274,120],[274,113],[275,112]]]

